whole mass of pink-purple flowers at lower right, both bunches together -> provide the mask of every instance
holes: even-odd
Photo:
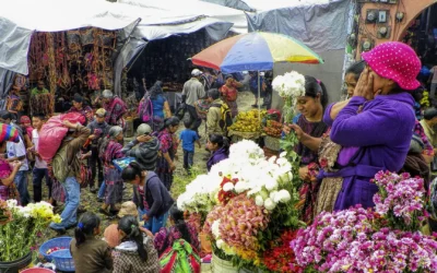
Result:
[[[437,241],[418,232],[423,179],[380,171],[374,182],[375,211],[321,213],[298,232],[291,248],[302,272],[437,272]]]

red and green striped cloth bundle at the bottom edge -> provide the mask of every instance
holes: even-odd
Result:
[[[200,273],[201,261],[196,249],[177,239],[160,257],[161,273]]]

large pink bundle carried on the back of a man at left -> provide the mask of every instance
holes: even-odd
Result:
[[[38,140],[38,152],[46,162],[54,158],[59,150],[68,128],[62,126],[62,121],[68,120],[72,123],[84,124],[86,119],[79,112],[69,112],[51,117],[42,128]]]

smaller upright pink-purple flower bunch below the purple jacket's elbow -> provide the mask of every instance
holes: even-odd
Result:
[[[379,171],[373,180],[379,192],[374,195],[375,211],[389,221],[390,227],[417,230],[425,218],[425,188],[422,178],[409,174]]]

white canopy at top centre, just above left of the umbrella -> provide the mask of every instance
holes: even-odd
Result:
[[[204,2],[201,0],[118,0],[118,3],[126,3],[153,11],[153,16],[165,17],[178,16],[179,19],[209,17],[217,22],[232,23],[232,31],[236,33],[247,33],[247,19],[243,11]],[[142,16],[146,20],[146,16]],[[151,22],[155,20],[150,20]],[[206,22],[206,21],[205,21]],[[141,22],[141,25],[150,23]],[[200,29],[200,28],[199,28]]]

